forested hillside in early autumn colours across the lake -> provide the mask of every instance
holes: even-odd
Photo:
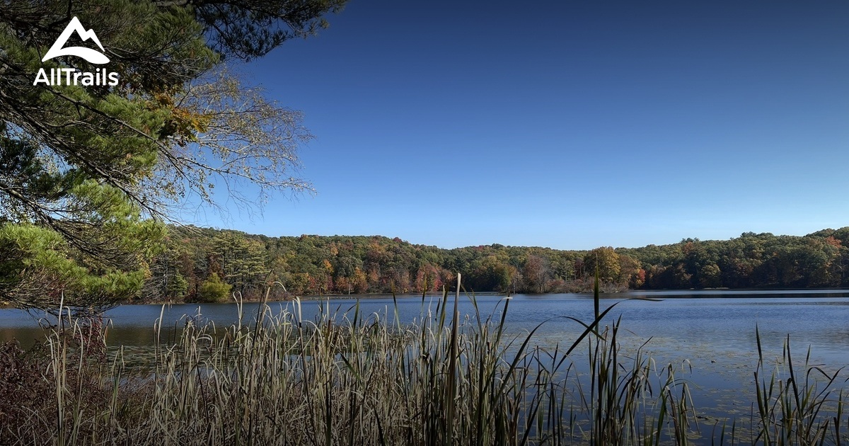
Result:
[[[642,248],[441,249],[380,236],[267,237],[171,228],[151,265],[143,301],[256,299],[278,281],[296,295],[440,291],[455,274],[470,291],[586,291],[596,265],[607,290],[838,287],[849,285],[849,227],[806,236],[741,234]],[[283,288],[273,288],[273,298]]]

